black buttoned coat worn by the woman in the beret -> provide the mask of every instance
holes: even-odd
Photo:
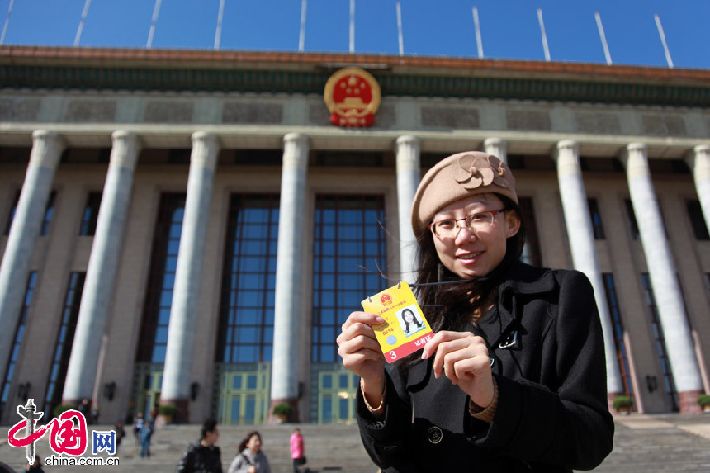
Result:
[[[508,274],[497,309],[470,326],[495,360],[493,422],[472,418],[468,396],[434,378],[433,357],[388,365],[384,418],[372,416],[359,390],[357,401],[363,444],[383,471],[569,472],[592,469],[611,451],[591,284],[577,271],[523,263]]]

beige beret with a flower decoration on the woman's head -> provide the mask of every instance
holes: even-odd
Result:
[[[518,203],[515,177],[500,159],[480,151],[466,151],[439,161],[424,175],[414,195],[414,233],[426,230],[440,208],[488,192],[504,195]]]

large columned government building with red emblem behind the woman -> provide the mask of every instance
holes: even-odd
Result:
[[[610,406],[710,392],[710,71],[0,47],[0,423],[352,422],[336,337],[412,280],[437,161],[515,173],[524,258],[586,273]]]

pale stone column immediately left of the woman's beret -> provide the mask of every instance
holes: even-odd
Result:
[[[399,279],[410,284],[419,269],[417,240],[412,230],[412,202],[419,185],[419,139],[397,138],[397,206],[399,212]]]

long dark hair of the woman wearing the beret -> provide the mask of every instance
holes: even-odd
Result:
[[[417,295],[429,324],[434,330],[461,330],[480,311],[498,287],[510,266],[520,259],[525,245],[525,227],[518,204],[500,194],[495,194],[507,211],[515,212],[520,220],[518,233],[506,240],[505,257],[491,273],[484,277],[463,281],[449,271],[441,261],[429,229],[417,237],[419,271]],[[461,281],[459,284],[426,285],[437,281]]]

